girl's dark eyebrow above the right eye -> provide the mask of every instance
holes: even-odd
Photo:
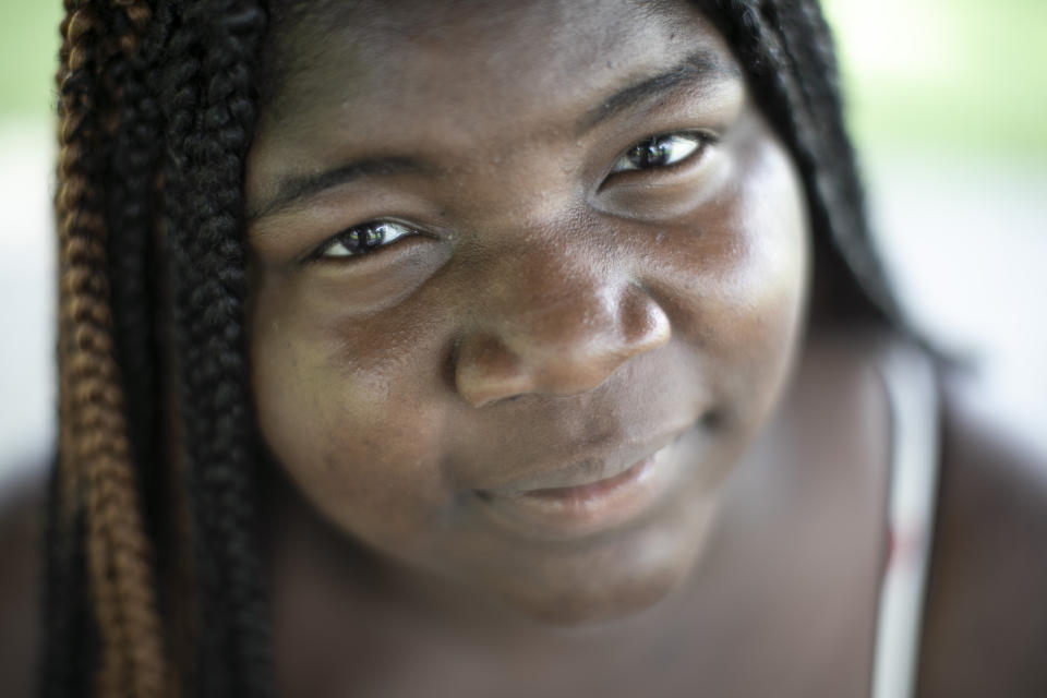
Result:
[[[738,80],[742,76],[737,65],[721,60],[713,52],[695,51],[664,73],[648,77],[611,95],[578,120],[577,130],[579,134],[590,131],[623,111],[686,83],[696,81],[713,83],[721,80]]]

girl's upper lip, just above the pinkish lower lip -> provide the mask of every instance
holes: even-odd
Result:
[[[478,490],[483,495],[503,497],[526,495],[535,490],[578,488],[621,474],[676,441],[687,426],[666,431],[653,438],[626,440],[601,445],[581,456],[571,458],[568,465],[550,465],[529,468],[531,472],[520,478],[500,483],[494,488]],[[559,461],[561,464],[563,460]]]

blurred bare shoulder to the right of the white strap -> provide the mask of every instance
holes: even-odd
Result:
[[[943,390],[919,696],[1047,696],[1047,456]]]

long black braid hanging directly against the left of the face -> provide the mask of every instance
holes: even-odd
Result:
[[[274,690],[245,360],[244,161],[251,67],[265,27],[248,2],[185,9],[167,104],[168,231],[200,582],[203,695]],[[200,89],[198,86],[203,86]]]

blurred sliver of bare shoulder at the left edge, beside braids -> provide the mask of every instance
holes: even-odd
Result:
[[[43,638],[43,470],[0,491],[0,693],[12,698],[33,694]]]

